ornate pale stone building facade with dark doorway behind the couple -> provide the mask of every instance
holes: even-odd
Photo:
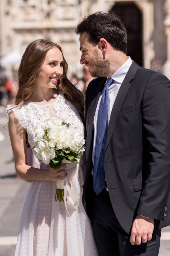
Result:
[[[128,32],[128,55],[139,65],[170,78],[170,0],[3,0],[0,1],[0,57],[44,38],[57,42],[69,73],[81,76],[78,21],[89,13],[115,11]],[[7,65],[14,73],[16,65]]]

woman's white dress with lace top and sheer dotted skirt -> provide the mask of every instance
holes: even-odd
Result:
[[[9,105],[7,110],[14,107]],[[66,123],[84,130],[75,106],[59,93],[56,102],[39,106],[25,102],[13,109],[19,123],[27,130],[28,142],[33,147],[35,128],[50,117],[60,117]],[[8,111],[9,113],[9,111]],[[40,168],[49,168],[40,161]],[[75,209],[67,193],[67,212],[63,202],[54,201],[55,181],[32,181],[20,222],[15,256],[94,256],[97,255],[91,223],[82,205],[82,185],[85,164],[68,170],[67,177],[79,198]]]

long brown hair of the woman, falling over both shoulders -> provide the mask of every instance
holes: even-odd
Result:
[[[17,106],[22,106],[33,94],[34,82],[39,68],[45,60],[46,53],[54,47],[57,47],[63,55],[61,47],[48,40],[38,39],[27,46],[18,69],[19,89],[15,100]],[[59,92],[64,94],[67,101],[76,106],[84,121],[84,96],[67,78],[68,64],[64,56],[63,62],[63,75],[57,82],[57,88]]]

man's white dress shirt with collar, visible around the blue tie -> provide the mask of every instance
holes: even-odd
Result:
[[[116,99],[116,96],[118,94],[118,91],[120,89],[120,86],[129,70],[129,67],[132,64],[132,60],[131,58],[128,56],[127,61],[111,76],[111,78],[114,80],[113,83],[111,84],[111,86],[109,87],[109,107],[108,107],[108,114],[107,114],[107,118],[108,118],[108,126],[109,126],[109,120],[111,117],[111,111]],[[107,77],[108,79],[108,77]],[[106,80],[107,83],[107,80]],[[106,85],[105,83],[105,85]],[[104,90],[105,86],[103,87]],[[96,144],[96,131],[97,131],[97,115],[98,115],[98,111],[99,111],[99,105],[101,102],[101,97],[103,94],[103,90],[101,92],[99,101],[97,103],[97,107],[96,107],[96,111],[95,111],[95,116],[94,116],[94,140],[93,140],[93,151],[92,151],[92,161],[94,164],[94,154],[95,154],[95,144]],[[93,174],[93,169],[92,169],[92,174]]]

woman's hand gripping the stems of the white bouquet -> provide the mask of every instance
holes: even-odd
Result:
[[[62,163],[58,170],[50,168],[48,169],[48,178],[52,181],[63,180],[67,176],[66,164]]]

